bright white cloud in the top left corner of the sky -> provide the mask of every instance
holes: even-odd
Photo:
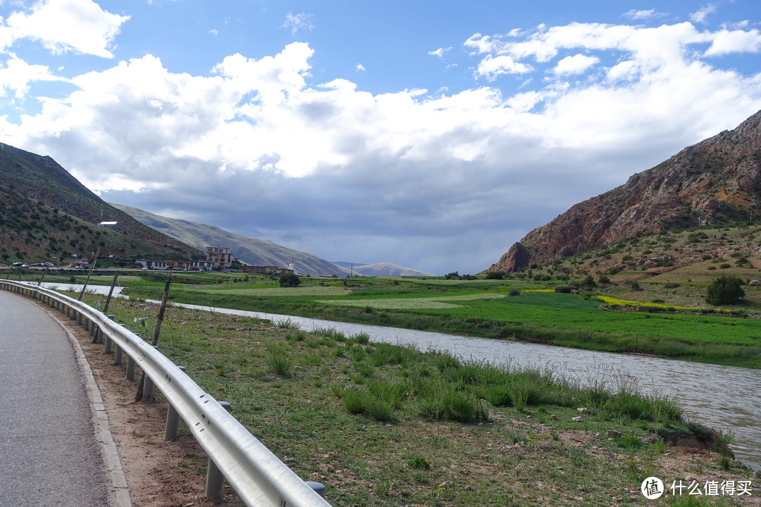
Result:
[[[74,51],[113,58],[111,46],[119,27],[129,16],[103,11],[91,0],[43,0],[30,13],[14,12],[5,20],[0,43],[7,48],[15,40],[39,40],[54,53]]]

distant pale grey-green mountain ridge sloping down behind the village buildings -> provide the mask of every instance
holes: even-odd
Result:
[[[316,255],[289,249],[266,239],[231,233],[204,223],[161,217],[139,208],[131,208],[121,204],[112,205],[148,227],[193,245],[197,249],[203,250],[206,246],[227,247],[234,257],[240,258],[241,261],[248,264],[285,268],[291,263],[292,258],[296,269],[307,274],[336,274],[339,277],[349,274],[349,270],[336,266]]]

